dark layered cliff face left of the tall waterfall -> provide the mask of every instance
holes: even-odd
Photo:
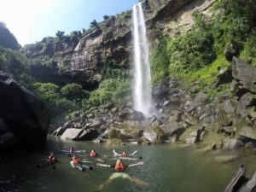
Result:
[[[21,50],[31,61],[31,74],[41,82],[75,82],[93,90],[108,64],[127,68],[131,55],[131,11],[110,16],[83,34],[44,38]]]

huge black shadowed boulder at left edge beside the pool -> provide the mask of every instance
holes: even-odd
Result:
[[[0,72],[0,106],[0,147],[44,146],[49,127],[44,102],[3,72]]]

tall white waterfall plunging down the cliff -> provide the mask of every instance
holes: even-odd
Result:
[[[133,20],[133,102],[134,109],[151,116],[151,75],[142,3],[132,8]]]

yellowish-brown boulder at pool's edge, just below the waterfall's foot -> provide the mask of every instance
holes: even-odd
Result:
[[[164,131],[160,127],[148,127],[143,131],[143,137],[150,143],[163,143]]]

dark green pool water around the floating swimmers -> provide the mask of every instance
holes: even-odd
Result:
[[[105,148],[101,144],[90,142],[75,143],[49,139],[47,148],[41,153],[34,154],[1,154],[0,159],[0,191],[24,192],[85,192],[96,191],[109,176],[111,168],[96,167],[81,172],[69,165],[67,155],[57,152],[59,148],[74,146],[75,149],[95,148],[98,154],[103,154],[106,163],[113,164],[113,148]],[[115,148],[117,151],[132,152],[138,150],[143,156],[144,165],[130,167],[126,172],[148,183],[148,187],[138,187],[131,181],[117,178],[102,191],[148,191],[148,192],[221,192],[229,183],[236,166],[243,162],[247,165],[248,173],[256,170],[255,151],[241,149],[231,152],[201,152],[197,145],[185,146],[179,144],[164,144],[157,146],[129,145]],[[37,168],[35,165],[47,157],[49,151],[55,151],[61,163],[56,170],[49,166]],[[224,154],[243,156],[229,164],[216,163],[215,156]],[[81,156],[86,160],[88,157]],[[125,164],[135,163],[134,160],[124,160]]]

